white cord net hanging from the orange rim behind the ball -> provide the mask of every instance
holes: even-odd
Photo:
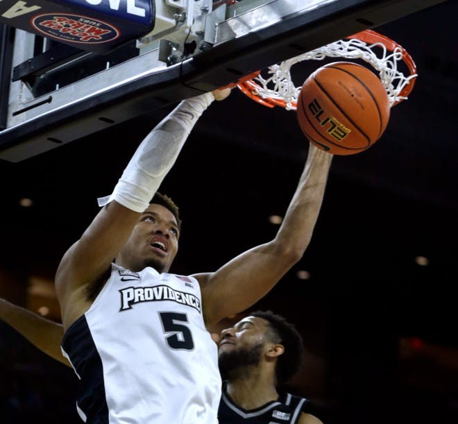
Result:
[[[379,56],[373,49],[378,49]],[[260,99],[271,99],[273,103],[279,101],[285,109],[296,110],[301,85],[297,87],[294,81],[291,80],[290,69],[293,65],[303,60],[323,60],[325,58],[359,59],[368,62],[378,71],[378,76],[382,80],[385,90],[387,90],[391,107],[407,99],[407,96],[402,95],[402,92],[403,90],[405,91],[405,87],[411,80],[417,76],[416,74],[405,76],[398,70],[398,62],[404,59],[405,53],[401,46],[396,46],[393,51],[389,51],[382,42],[368,45],[366,42],[357,39],[339,40],[272,65],[266,70],[270,75],[268,78],[258,74],[252,80],[247,81],[247,89],[251,90],[252,97],[259,96]]]

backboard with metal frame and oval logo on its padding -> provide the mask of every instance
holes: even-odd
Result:
[[[0,159],[31,158],[442,2],[2,0]]]

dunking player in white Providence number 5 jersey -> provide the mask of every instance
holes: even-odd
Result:
[[[156,192],[198,117],[229,92],[180,102],[146,136],[58,266],[62,351],[80,379],[86,423],[216,424],[221,377],[205,326],[262,298],[309,244],[332,162],[312,146],[273,240],[211,273],[168,273],[180,219]]]

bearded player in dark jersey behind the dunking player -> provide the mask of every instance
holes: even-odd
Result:
[[[309,400],[278,389],[303,363],[302,337],[284,317],[252,312],[221,332],[220,424],[323,424],[309,414]]]

